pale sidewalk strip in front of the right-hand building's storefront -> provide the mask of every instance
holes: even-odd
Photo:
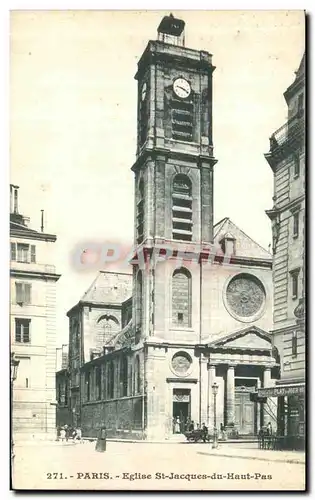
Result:
[[[291,464],[305,464],[305,453],[302,451],[274,451],[255,448],[236,448],[220,446],[217,449],[208,448],[207,451],[198,451],[199,455],[219,456],[227,458],[244,458],[249,460],[263,460],[266,462],[284,462]]]

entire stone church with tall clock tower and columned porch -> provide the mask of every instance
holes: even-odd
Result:
[[[164,17],[135,76],[132,272],[100,271],[68,312],[66,399],[83,436],[169,439],[177,417],[255,435],[277,417],[251,397],[279,378],[272,256],[231,219],[214,224],[215,67],[184,27]]]

